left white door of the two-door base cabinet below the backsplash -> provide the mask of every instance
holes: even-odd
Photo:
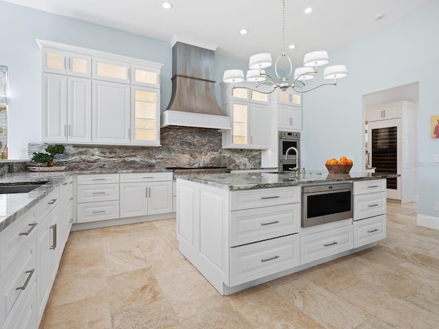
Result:
[[[121,217],[147,215],[147,183],[121,183],[120,212]]]

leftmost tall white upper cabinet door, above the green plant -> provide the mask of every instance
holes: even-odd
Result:
[[[41,141],[67,141],[67,76],[42,74]]]

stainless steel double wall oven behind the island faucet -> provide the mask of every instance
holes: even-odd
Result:
[[[300,132],[278,132],[278,143],[278,170],[288,171],[296,167],[296,164],[300,167]],[[298,154],[289,152],[285,159],[289,147],[296,147]]]

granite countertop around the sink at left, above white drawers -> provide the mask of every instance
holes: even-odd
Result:
[[[46,182],[29,193],[0,194],[0,232],[7,228],[27,210],[38,204],[41,199],[60,186],[66,178],[73,175],[71,171],[49,173],[12,173],[0,176],[0,186],[23,182]]]

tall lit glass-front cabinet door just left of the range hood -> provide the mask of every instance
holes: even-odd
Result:
[[[160,145],[159,90],[132,86],[131,101],[131,143]]]

